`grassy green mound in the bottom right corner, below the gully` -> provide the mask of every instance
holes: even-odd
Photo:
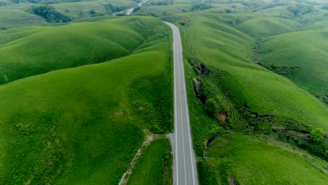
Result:
[[[307,156],[307,158],[303,158]],[[327,184],[327,163],[267,137],[229,135],[198,163],[203,184]]]

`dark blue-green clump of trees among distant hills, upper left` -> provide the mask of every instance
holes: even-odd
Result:
[[[34,7],[31,9],[31,11],[35,15],[39,15],[41,18],[44,18],[47,22],[62,23],[71,21],[71,18],[68,18],[62,13],[55,11],[55,8],[53,8],[53,6]]]

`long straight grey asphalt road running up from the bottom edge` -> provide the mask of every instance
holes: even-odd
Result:
[[[175,185],[198,184],[196,158],[191,139],[189,108],[186,98],[182,42],[179,29],[165,22],[173,30],[173,54],[175,76],[175,133],[173,149]]]

